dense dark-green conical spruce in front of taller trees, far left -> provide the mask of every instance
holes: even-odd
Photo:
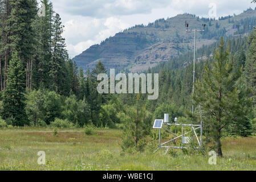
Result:
[[[22,61],[15,51],[10,61],[6,89],[3,92],[2,117],[14,118],[15,126],[27,125],[25,113],[26,77]]]

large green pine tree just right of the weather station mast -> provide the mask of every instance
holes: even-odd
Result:
[[[245,122],[251,100],[250,90],[242,86],[242,69],[235,72],[223,38],[214,58],[212,68],[206,66],[202,81],[196,84],[194,100],[202,107],[207,138],[216,143],[218,155],[223,156],[222,130],[235,122]]]

